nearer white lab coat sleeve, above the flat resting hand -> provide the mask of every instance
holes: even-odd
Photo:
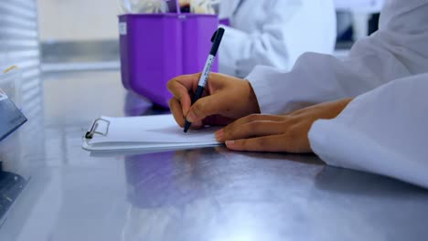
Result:
[[[379,173],[428,188],[428,74],[394,80],[352,100],[309,131],[327,164]]]

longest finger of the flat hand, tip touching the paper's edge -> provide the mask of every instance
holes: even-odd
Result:
[[[287,125],[283,121],[251,121],[235,128],[226,127],[216,132],[219,142],[247,139],[256,136],[277,135],[284,133]]]

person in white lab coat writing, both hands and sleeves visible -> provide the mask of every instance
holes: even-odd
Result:
[[[180,126],[227,125],[234,151],[315,152],[327,164],[428,188],[428,0],[389,0],[379,31],[348,58],[306,53],[290,72],[254,68],[244,81],[212,74],[191,105],[198,74],[168,82]],[[264,113],[264,114],[260,114]]]

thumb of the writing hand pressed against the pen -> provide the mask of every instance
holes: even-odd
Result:
[[[209,95],[199,99],[190,107],[186,120],[189,122],[202,121],[208,116],[219,114],[221,110],[219,97],[216,94]]]

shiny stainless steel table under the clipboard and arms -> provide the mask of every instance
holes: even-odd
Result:
[[[117,72],[45,79],[44,118],[27,124],[38,131],[19,133],[27,185],[2,241],[428,240],[426,190],[313,155],[85,152],[97,116],[159,110],[127,94]]]

